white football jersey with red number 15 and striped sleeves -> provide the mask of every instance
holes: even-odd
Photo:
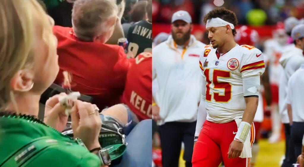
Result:
[[[265,64],[261,51],[253,46],[236,45],[219,58],[216,51],[205,46],[199,64],[206,80],[207,120],[226,123],[243,116],[246,103],[242,78],[261,75]]]

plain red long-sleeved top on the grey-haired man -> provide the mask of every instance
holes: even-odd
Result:
[[[72,74],[73,91],[92,96],[100,109],[118,104],[132,61],[126,58],[123,48],[82,42],[70,27],[54,26],[53,32],[58,39],[60,67],[55,83],[63,83],[62,72],[67,70]]]

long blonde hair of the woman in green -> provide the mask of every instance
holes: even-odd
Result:
[[[48,17],[36,0],[0,0],[0,110],[9,102],[16,106],[10,81],[19,70],[32,68],[37,25],[43,27],[43,41],[54,44]]]

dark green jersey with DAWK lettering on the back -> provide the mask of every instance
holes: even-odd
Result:
[[[152,52],[152,23],[147,20],[136,22],[128,32],[128,50],[137,56],[143,52]]]

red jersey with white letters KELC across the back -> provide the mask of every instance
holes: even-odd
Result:
[[[127,75],[123,103],[140,120],[152,118],[152,53],[136,57]]]

